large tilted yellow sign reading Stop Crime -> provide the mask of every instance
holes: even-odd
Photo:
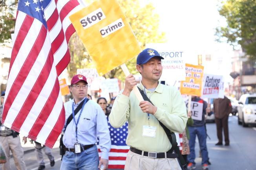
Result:
[[[116,0],[97,0],[69,16],[99,75],[141,52]]]

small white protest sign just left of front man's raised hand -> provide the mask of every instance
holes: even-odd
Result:
[[[101,89],[102,91],[108,91],[108,93],[118,93],[120,91],[118,79],[106,79],[102,81]]]

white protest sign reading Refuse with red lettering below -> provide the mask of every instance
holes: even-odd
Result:
[[[224,97],[223,76],[204,74],[202,97],[219,98],[221,94],[223,94]]]

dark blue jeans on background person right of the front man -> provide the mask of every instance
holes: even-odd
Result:
[[[196,143],[196,135],[199,141],[199,147],[201,150],[201,156],[202,156],[202,165],[207,163],[208,164],[208,151],[206,146],[206,131],[205,131],[205,125],[203,126],[197,126],[192,127],[188,126],[188,131],[190,135],[189,139],[189,149],[190,154],[188,155],[188,162],[191,162],[193,164],[195,163],[195,143]]]

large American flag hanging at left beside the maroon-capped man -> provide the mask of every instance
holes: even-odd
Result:
[[[70,61],[77,0],[19,0],[2,123],[50,148],[65,121],[58,76]]]

